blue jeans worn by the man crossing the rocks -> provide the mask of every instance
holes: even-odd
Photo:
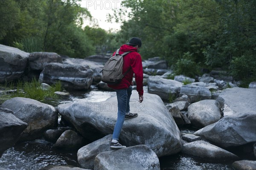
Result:
[[[131,97],[132,87],[121,90],[116,90],[116,97],[117,97],[117,120],[116,125],[113,131],[112,139],[119,139],[119,135],[122,129],[122,125],[125,121],[125,113],[130,112],[130,97]]]

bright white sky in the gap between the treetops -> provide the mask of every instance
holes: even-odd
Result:
[[[122,0],[81,0],[79,3],[81,7],[87,8],[90,11],[92,17],[98,23],[99,28],[103,28],[106,31],[112,29],[113,32],[120,30],[120,24],[108,23],[106,16],[107,14],[113,14],[113,9],[124,9],[125,7],[121,6],[121,2]],[[84,24],[88,25],[89,23],[85,22]]]

